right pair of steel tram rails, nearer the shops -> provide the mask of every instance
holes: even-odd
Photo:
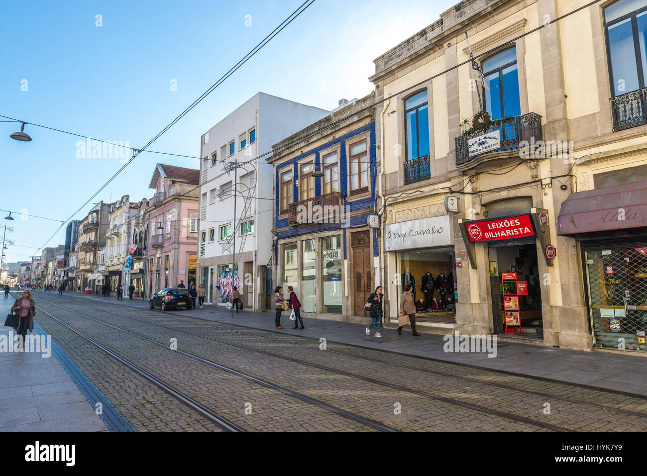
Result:
[[[49,304],[51,304],[51,305],[63,308],[65,310],[69,311],[69,312],[74,312],[75,314],[83,316],[83,317],[85,317],[87,319],[91,319],[93,321],[103,323],[104,325],[108,325],[108,326],[113,327],[115,329],[121,330],[123,332],[127,332],[129,334],[133,334],[134,336],[138,336],[139,338],[142,338],[142,339],[147,340],[147,341],[151,341],[153,343],[157,343],[158,345],[163,345],[165,348],[168,348],[168,345],[166,345],[164,343],[160,343],[160,342],[155,341],[155,340],[151,340],[147,336],[143,336],[142,334],[138,334],[137,332],[133,332],[131,330],[115,326],[115,325],[113,325],[111,323],[107,323],[105,321],[102,321],[101,319],[93,318],[92,316],[87,316],[87,314],[83,314],[82,312],[78,312],[78,310],[74,310],[74,309],[71,309],[71,308],[67,308],[65,306],[61,306],[61,305],[59,305],[57,303],[54,303],[52,301],[47,301],[45,299],[42,299],[42,300],[49,303]],[[137,307],[132,307],[132,308],[137,308]],[[140,308],[137,308],[137,309],[140,309]],[[181,332],[183,334],[188,334],[188,335],[203,338],[203,339],[206,339],[206,340],[216,341],[216,342],[221,343],[223,345],[228,345],[228,346],[231,346],[231,347],[244,349],[245,351],[256,352],[258,354],[264,354],[264,355],[267,355],[267,356],[271,356],[272,358],[280,358],[280,359],[283,359],[283,360],[287,360],[289,362],[299,363],[301,365],[307,365],[309,367],[320,369],[322,371],[341,374],[341,375],[347,376],[349,378],[353,378],[353,379],[356,379],[356,380],[361,380],[363,382],[367,382],[367,383],[370,383],[370,384],[376,384],[376,385],[381,385],[381,386],[384,386],[384,387],[389,387],[389,388],[395,389],[397,391],[403,391],[403,392],[406,392],[406,393],[410,393],[412,395],[422,396],[423,398],[428,398],[428,399],[431,399],[431,400],[437,400],[439,402],[444,402],[446,404],[450,404],[450,405],[453,405],[453,406],[463,407],[465,409],[470,409],[472,411],[477,411],[477,412],[482,413],[482,414],[485,413],[485,414],[488,414],[488,415],[496,415],[496,416],[499,416],[501,418],[507,418],[509,420],[514,420],[514,421],[521,422],[521,423],[524,423],[524,424],[529,424],[529,425],[532,425],[532,426],[540,427],[542,429],[549,429],[551,431],[573,431],[572,429],[567,428],[567,427],[558,426],[558,425],[554,425],[554,424],[550,424],[550,423],[546,423],[546,422],[540,422],[540,421],[534,420],[532,418],[527,418],[525,416],[520,416],[520,415],[514,415],[514,414],[508,413],[506,411],[501,411],[501,410],[498,410],[498,409],[492,409],[492,408],[489,408],[489,407],[484,407],[484,406],[480,406],[480,405],[477,405],[477,404],[472,404],[470,402],[465,402],[463,400],[457,400],[455,398],[444,397],[444,396],[439,396],[439,395],[433,395],[433,394],[430,394],[430,393],[428,393],[426,391],[420,391],[420,390],[417,390],[417,389],[412,389],[412,388],[406,387],[404,385],[392,384],[390,382],[385,382],[383,380],[377,380],[377,379],[374,379],[374,378],[370,378],[370,377],[362,376],[362,375],[359,375],[359,374],[343,371],[343,370],[340,370],[340,369],[334,369],[333,367],[328,367],[327,365],[320,365],[318,363],[307,362],[305,360],[301,360],[301,359],[298,359],[298,358],[293,358],[293,357],[289,357],[289,356],[285,356],[285,355],[281,355],[281,354],[276,354],[275,352],[269,352],[269,351],[263,351],[261,349],[255,349],[254,347],[248,347],[246,345],[242,345],[242,344],[233,343],[233,342],[230,342],[230,341],[225,341],[225,340],[221,340],[221,339],[217,339],[217,338],[204,336],[203,334],[197,334],[195,332],[190,332],[190,331],[178,329],[178,328],[175,328],[175,327],[165,326],[165,325],[161,325],[159,323],[153,323],[153,322],[150,322],[150,321],[146,321],[145,319],[135,318],[133,316],[126,316],[124,314],[118,314],[116,312],[111,312],[111,311],[108,311],[108,310],[105,310],[105,309],[102,309],[101,312],[105,312],[107,314],[113,314],[113,315],[118,316],[120,318],[133,319],[134,321],[146,323],[147,325],[154,325],[154,326],[157,326],[157,327],[162,327],[162,328],[165,328],[165,329],[168,329],[168,330],[173,330],[175,332]],[[177,314],[175,314],[175,315],[177,316]],[[185,316],[181,316],[181,317],[185,317]],[[230,330],[230,329],[226,329],[226,330]],[[236,331],[234,331],[234,332],[236,332]],[[241,332],[241,334],[248,334],[248,335],[253,335],[254,337],[259,337],[259,336],[256,336],[254,334],[249,334],[249,333],[245,333],[245,332]],[[305,346],[305,347],[309,347],[309,346]],[[309,348],[312,349],[312,347],[309,347]],[[218,363],[215,363],[215,362],[212,362],[212,361],[209,361],[209,360],[205,360],[204,358],[201,358],[199,356],[195,356],[194,354],[190,354],[189,352],[184,352],[184,351],[174,351],[174,352],[184,353],[185,355],[190,356],[192,358],[196,358],[197,360],[200,360],[201,362],[210,363],[210,365],[215,364],[215,365],[221,366],[221,364],[218,364]],[[338,354],[342,354],[344,356],[352,356],[352,357],[360,358],[360,356],[355,356],[353,354],[346,354],[345,352],[336,352],[336,351],[333,351],[333,352],[338,353]],[[370,358],[366,358],[366,359],[371,360]],[[377,360],[377,359],[373,359],[373,361],[380,362],[380,363],[385,363],[385,364],[389,364],[389,365],[391,364],[389,362],[380,361],[380,360]],[[396,365],[402,366],[400,364],[396,364]],[[407,366],[403,366],[403,367],[407,367]],[[236,371],[234,369],[229,369],[228,367],[225,367],[225,368],[228,369],[228,371],[239,372],[239,371]],[[415,369],[415,370],[424,371],[424,369],[420,369],[418,367],[410,367],[410,368]],[[435,371],[430,371],[430,372],[431,373],[436,373]],[[442,373],[439,373],[439,374],[442,374]],[[453,376],[451,374],[444,374],[444,375],[455,378],[455,376]],[[247,377],[250,378],[250,376],[247,376]],[[254,378],[254,377],[251,377],[251,378]],[[480,382],[478,380],[473,380],[473,382],[477,383],[477,384],[481,384],[481,385],[486,385],[485,382]],[[268,383],[268,382],[266,382],[266,383]],[[273,385],[273,384],[270,384],[270,385]],[[514,391],[520,391],[520,389],[517,389],[515,387],[509,387],[509,386],[505,386],[505,385],[504,385],[504,387],[507,387],[508,389],[512,389]],[[536,395],[545,396],[545,394],[543,394],[543,393],[536,393]],[[564,399],[564,398],[562,398],[562,399]],[[568,399],[566,399],[566,401],[569,401],[569,402],[571,402],[573,404],[588,404],[588,402],[581,402],[580,403],[580,402],[576,402],[576,401],[568,400]],[[605,407],[605,408],[608,411],[619,411],[619,409],[616,409],[616,408],[613,408],[613,407]],[[624,411],[622,413],[626,413],[626,411]],[[639,415],[640,416],[647,416],[647,415],[644,415],[644,414],[639,414]]]

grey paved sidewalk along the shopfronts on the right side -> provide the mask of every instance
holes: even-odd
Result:
[[[35,299],[43,296],[49,301],[56,301],[56,292],[36,292]],[[134,305],[148,308],[148,301],[144,299],[126,298],[117,301],[115,297],[96,297],[78,293],[65,293],[65,296],[78,297],[103,301],[115,305]],[[157,312],[162,310],[157,309]],[[477,365],[479,367],[538,376],[571,382],[574,384],[592,385],[612,391],[635,393],[647,396],[647,358],[617,352],[584,352],[545,347],[527,343],[499,341],[496,358],[488,358],[487,353],[458,353],[444,352],[443,336],[437,334],[422,334],[420,337],[411,336],[411,328],[405,327],[402,336],[394,329],[382,329],[382,338],[367,336],[364,325],[349,324],[341,321],[328,321],[324,319],[303,319],[305,329],[293,330],[292,321],[288,314],[283,313],[281,324],[284,330],[274,327],[274,314],[267,312],[251,312],[243,310],[234,312],[231,318],[230,311],[215,306],[205,306],[202,309],[174,310],[172,314],[190,316],[228,324],[237,324],[254,329],[270,330],[281,334],[294,334],[315,339],[325,338],[328,341],[358,345],[382,351],[400,352],[411,356],[434,358],[447,362]],[[367,322],[368,323],[368,322]]]

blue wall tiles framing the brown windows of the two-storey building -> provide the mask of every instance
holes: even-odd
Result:
[[[366,131],[369,131],[369,147],[368,147],[368,158],[369,158],[369,182],[370,182],[370,189],[371,189],[371,195],[370,197],[364,197],[362,199],[356,199],[353,200],[353,197],[348,196],[348,164],[347,164],[347,157],[346,157],[346,146],[347,142],[350,142],[353,140],[353,138],[359,134],[365,133]],[[360,213],[360,215],[355,215],[353,217],[350,217],[350,228],[348,228],[349,231],[353,231],[353,228],[358,228],[358,227],[366,227],[367,219],[369,215],[373,215],[376,213],[375,207],[377,206],[377,199],[375,195],[375,179],[376,179],[376,173],[377,173],[377,160],[376,160],[376,153],[375,153],[375,122],[371,122],[370,124],[364,125],[363,127],[360,127],[358,129],[355,129],[352,132],[349,132],[343,136],[340,136],[338,138],[335,138],[329,142],[326,142],[325,144],[322,144],[321,146],[318,146],[314,149],[309,149],[307,151],[304,151],[301,155],[298,155],[297,157],[292,158],[291,160],[288,160],[286,162],[281,162],[280,166],[275,166],[274,168],[274,175],[275,175],[275,182],[277,184],[276,186],[276,195],[274,197],[275,200],[275,206],[274,206],[274,211],[276,213],[276,229],[280,230],[281,228],[285,228],[289,226],[288,224],[288,219],[286,218],[279,218],[279,210],[280,210],[280,177],[279,173],[285,173],[289,169],[287,167],[287,164],[292,164],[292,174],[293,174],[293,181],[292,181],[292,196],[293,197],[299,197],[299,191],[297,187],[297,181],[299,179],[299,168],[298,168],[298,162],[299,160],[302,160],[302,158],[305,157],[310,157],[314,154],[314,161],[315,164],[317,164],[318,167],[321,167],[320,164],[320,151],[328,149],[329,147],[333,147],[336,145],[340,145],[340,190],[342,190],[342,199],[344,200],[344,205],[349,206],[350,208],[350,213],[356,213],[357,211],[364,211],[365,213]],[[316,177],[314,179],[314,195],[319,196],[322,195],[322,180],[323,177]],[[276,232],[276,237],[281,240],[285,238],[291,238],[291,237],[298,237],[300,235],[307,235],[308,233],[316,233],[316,232],[325,232],[329,230],[340,230],[341,224],[339,223],[317,223],[317,224],[310,224],[310,225],[301,225],[301,226],[291,226],[290,228],[287,228],[285,230],[281,230],[279,232]],[[378,242],[377,242],[377,230],[373,230],[373,255],[377,256],[378,255]],[[344,243],[344,259],[347,259],[347,233],[343,233],[343,243]],[[278,250],[277,250],[278,251]],[[276,255],[276,258],[278,259],[278,255]]]

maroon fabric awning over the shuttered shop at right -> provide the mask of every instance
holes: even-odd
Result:
[[[647,226],[647,180],[571,193],[562,203],[558,235]]]

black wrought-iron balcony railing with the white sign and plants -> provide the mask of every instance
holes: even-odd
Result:
[[[483,152],[476,152],[477,144],[472,139],[485,136],[499,134],[498,146],[488,148]],[[460,135],[454,139],[456,146],[456,166],[461,166],[481,157],[483,154],[492,152],[510,151],[519,149],[520,142],[531,142],[534,137],[534,142],[543,140],[542,135],[542,116],[536,113],[523,114],[523,116],[512,116],[504,118],[498,125],[490,125],[487,129],[477,131],[468,135]],[[470,155],[470,141],[472,142],[472,155]]]

